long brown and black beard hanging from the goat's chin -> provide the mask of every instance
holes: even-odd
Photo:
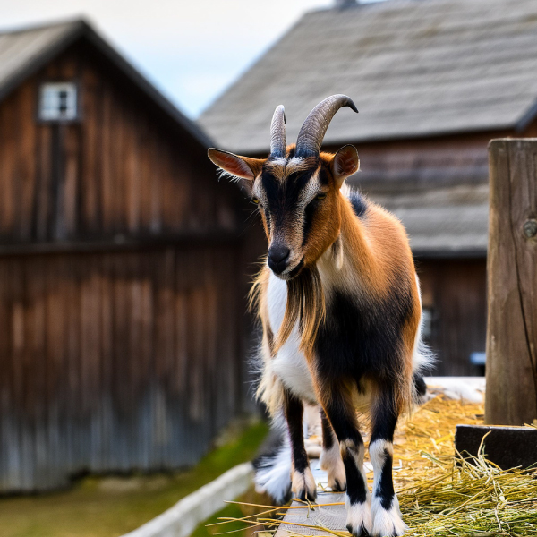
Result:
[[[311,354],[315,337],[326,314],[322,282],[316,266],[304,267],[292,279],[287,280],[286,314],[277,332],[274,353],[286,343],[298,321],[300,348]]]

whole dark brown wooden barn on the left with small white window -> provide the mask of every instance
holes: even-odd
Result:
[[[84,21],[0,35],[0,492],[190,465],[243,408],[243,211]]]

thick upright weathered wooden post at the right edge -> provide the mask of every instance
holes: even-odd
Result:
[[[537,419],[537,139],[489,144],[485,422]]]

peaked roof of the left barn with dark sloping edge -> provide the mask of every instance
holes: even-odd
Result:
[[[203,146],[211,141],[200,127],[188,119],[165,98],[115,48],[101,38],[81,19],[48,24],[23,30],[0,31],[0,100],[22,81],[38,72],[47,62],[62,53],[78,39],[85,38],[97,47],[115,67],[132,81],[148,98]]]

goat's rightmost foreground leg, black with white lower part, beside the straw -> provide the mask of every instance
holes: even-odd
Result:
[[[394,431],[398,412],[395,397],[389,388],[379,390],[371,410],[370,457],[373,465],[373,535],[400,536],[408,529],[401,518],[399,501],[394,490],[392,466]]]

